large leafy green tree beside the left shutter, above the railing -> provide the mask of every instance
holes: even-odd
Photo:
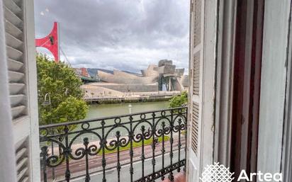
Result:
[[[74,70],[63,62],[51,61],[46,55],[37,56],[37,68],[40,125],[84,119],[88,106],[82,100],[82,81]],[[50,94],[50,105],[43,104],[46,93]]]

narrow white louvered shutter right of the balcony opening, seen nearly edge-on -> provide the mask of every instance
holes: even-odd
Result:
[[[191,86],[190,86],[190,139],[189,139],[189,178],[198,181],[200,167],[201,135],[201,85],[203,62],[203,0],[192,0],[191,3]]]

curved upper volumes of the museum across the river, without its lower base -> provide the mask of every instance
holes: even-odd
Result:
[[[113,70],[113,74],[98,71],[97,75],[101,81],[108,84],[92,84],[103,86],[122,92],[143,92],[143,91],[162,91],[163,86],[168,91],[184,91],[186,88],[182,84],[184,69],[176,69],[172,60],[160,60],[158,66],[150,64],[147,69],[141,70],[142,75],[130,74]]]

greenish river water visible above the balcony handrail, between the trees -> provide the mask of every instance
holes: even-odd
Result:
[[[89,112],[85,119],[94,119],[114,115],[125,115],[131,113],[140,113],[149,110],[167,109],[169,101],[145,102],[145,103],[112,103],[112,104],[96,104],[89,106]]]

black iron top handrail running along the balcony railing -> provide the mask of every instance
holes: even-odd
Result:
[[[113,116],[106,116],[106,117],[100,117],[100,118],[93,118],[93,119],[88,119],[88,120],[77,120],[77,121],[69,121],[65,123],[54,123],[54,124],[49,124],[49,125],[40,125],[39,129],[43,130],[47,127],[60,127],[64,125],[78,125],[81,123],[91,123],[96,120],[111,120],[115,118],[121,118],[121,117],[129,117],[133,115],[140,115],[140,114],[149,114],[149,113],[154,113],[154,112],[162,112],[162,111],[169,111],[169,110],[179,110],[179,109],[186,109],[188,108],[187,106],[181,106],[177,108],[167,108],[167,109],[159,109],[159,110],[149,110],[149,111],[143,111],[143,112],[137,112],[137,113],[130,113],[130,114],[123,114],[123,115],[113,115]]]

